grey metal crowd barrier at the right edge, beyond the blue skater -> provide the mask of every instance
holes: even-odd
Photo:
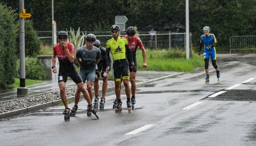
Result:
[[[229,38],[231,50],[254,50],[256,49],[256,36],[232,36]]]

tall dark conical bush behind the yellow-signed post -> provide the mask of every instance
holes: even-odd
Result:
[[[16,26],[19,29],[19,25]],[[19,31],[17,32],[19,33]],[[17,34],[19,35],[19,34]],[[17,37],[17,42],[20,42]],[[20,46],[17,44],[17,55],[20,54]],[[33,28],[32,21],[25,20],[25,56],[36,57],[41,54],[41,40],[38,38],[36,31]]]

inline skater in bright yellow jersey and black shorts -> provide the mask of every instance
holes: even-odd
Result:
[[[131,90],[129,85],[129,66],[133,67],[132,53],[129,48],[128,42],[125,38],[119,37],[120,27],[116,24],[112,25],[111,34],[113,38],[106,43],[106,61],[109,59],[109,51],[113,56],[113,69],[114,69],[114,81],[115,81],[115,93],[116,100],[114,101],[114,106],[116,113],[122,111],[122,101],[121,101],[121,75],[123,76],[123,83],[125,87],[125,94],[127,97],[127,108],[130,113],[131,111]]]

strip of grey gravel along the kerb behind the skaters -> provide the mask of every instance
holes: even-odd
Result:
[[[108,81],[108,88],[114,87],[114,81]],[[67,88],[66,95],[67,97],[75,96],[76,87]],[[102,89],[102,80],[99,81],[99,90]],[[24,97],[19,99],[13,99],[9,101],[0,102],[0,113],[6,113],[8,111],[27,108],[30,106],[44,104],[45,102],[52,102],[54,100],[60,100],[60,91],[53,91],[43,93],[41,95]]]

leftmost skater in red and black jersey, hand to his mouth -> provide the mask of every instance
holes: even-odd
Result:
[[[70,109],[67,104],[67,96],[65,93],[66,88],[66,81],[68,76],[77,84],[77,88],[82,91],[85,100],[91,105],[90,110],[92,113],[94,109],[92,107],[92,101],[90,99],[89,93],[84,87],[83,80],[79,73],[76,70],[74,65],[74,54],[75,54],[75,47],[73,44],[67,42],[68,33],[66,31],[60,31],[58,33],[58,41],[59,44],[53,47],[53,56],[52,56],[52,72],[57,73],[57,68],[55,67],[56,64],[56,56],[58,56],[60,68],[59,68],[59,75],[58,75],[58,83],[60,87],[60,97],[65,106],[65,110],[63,114],[69,116]],[[66,118],[65,118],[66,121]]]

